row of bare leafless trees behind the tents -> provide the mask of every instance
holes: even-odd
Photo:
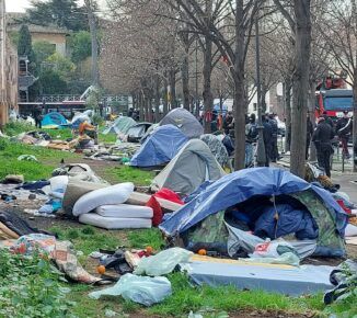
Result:
[[[293,173],[304,173],[306,117],[314,107],[319,80],[344,71],[357,95],[356,0],[108,0],[108,5],[112,16],[102,25],[102,84],[134,94],[140,113],[148,115],[160,100],[164,111],[177,106],[177,94],[195,112],[201,96],[206,132],[214,96],[231,95],[235,169],[243,168],[244,115],[256,87],[256,30],[260,102],[264,106],[268,90],[284,83]]]

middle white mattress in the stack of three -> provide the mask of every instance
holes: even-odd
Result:
[[[152,218],[153,216],[151,207],[130,204],[102,205],[95,208],[95,213],[105,217],[119,218]]]

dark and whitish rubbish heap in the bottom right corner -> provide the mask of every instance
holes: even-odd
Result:
[[[326,305],[356,295],[357,261],[346,260],[339,264],[337,269],[332,271],[330,281],[335,287],[325,293],[324,303]]]

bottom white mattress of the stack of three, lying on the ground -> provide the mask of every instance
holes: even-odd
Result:
[[[105,229],[151,228],[150,218],[104,217],[96,213],[82,214],[79,217],[79,222]]]

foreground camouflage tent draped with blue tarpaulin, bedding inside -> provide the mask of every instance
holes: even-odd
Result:
[[[283,203],[291,203],[295,208],[280,215]],[[266,206],[273,208],[264,214],[263,207]],[[297,209],[300,209],[299,216]],[[307,219],[309,216],[312,220]],[[252,241],[264,241],[262,237],[249,234],[254,232],[255,227],[261,231],[273,228],[274,237],[264,232],[263,238],[276,239],[283,235],[289,242],[309,245],[311,241],[315,245],[314,255],[342,257],[345,254],[346,222],[345,212],[327,191],[288,171],[253,168],[231,173],[208,185],[160,228],[166,236],[186,237],[186,246],[218,242],[220,248],[226,246],[226,251],[232,246],[239,250]],[[224,226],[227,223],[229,225]],[[261,224],[256,226],[256,223]],[[306,227],[300,227],[303,224]],[[291,232],[288,226],[292,227]],[[304,240],[295,236],[298,230],[308,231],[302,234]],[[314,236],[315,239],[311,240]]]

